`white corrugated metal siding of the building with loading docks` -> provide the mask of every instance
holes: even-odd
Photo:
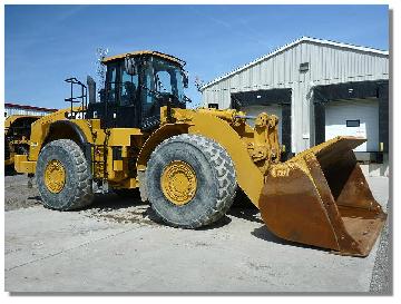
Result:
[[[299,71],[302,62],[310,62],[305,73]],[[292,150],[299,153],[313,144],[310,140],[313,86],[378,79],[389,79],[387,55],[301,42],[205,88],[203,105],[217,102],[219,108],[228,108],[231,92],[291,88]]]

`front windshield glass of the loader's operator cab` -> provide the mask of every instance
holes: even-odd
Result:
[[[154,57],[148,61],[146,87],[162,95],[174,95],[182,102],[185,100],[183,70],[177,65],[164,59]],[[147,99],[149,102],[153,98],[148,96]]]

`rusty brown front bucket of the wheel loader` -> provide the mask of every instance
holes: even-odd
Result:
[[[272,165],[258,202],[271,232],[340,254],[366,256],[387,214],[352,151],[364,141],[336,137]]]

